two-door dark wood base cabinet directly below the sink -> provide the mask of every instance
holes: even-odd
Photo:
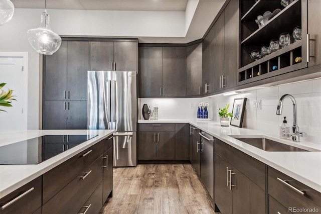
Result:
[[[222,214],[265,213],[265,191],[215,154],[215,203]]]

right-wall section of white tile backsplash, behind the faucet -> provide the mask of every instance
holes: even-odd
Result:
[[[247,91],[233,96],[212,97],[212,102],[217,108],[230,103],[232,111],[234,98],[247,97],[246,111],[243,127],[262,131],[267,134],[278,135],[278,127],[282,124],[283,117],[292,126],[293,113],[292,101],[286,98],[283,102],[282,115],[276,115],[276,106],[283,94],[291,94],[297,105],[297,125],[300,131],[307,136],[300,138],[302,141],[321,144],[321,79],[295,82],[274,87]],[[261,110],[254,110],[253,101],[261,100]],[[215,114],[215,121],[219,121]]]

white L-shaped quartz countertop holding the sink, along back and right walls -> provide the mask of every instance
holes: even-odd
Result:
[[[203,132],[233,146],[234,148],[254,157],[255,159],[277,169],[284,174],[302,182],[303,184],[321,192],[321,145],[304,142],[281,140],[278,136],[269,135],[256,130],[238,128],[233,126],[221,127],[218,122],[197,120],[139,120],[138,123],[189,123]],[[268,152],[249,144],[236,140],[230,135],[238,136],[268,136],[271,139],[302,149],[316,149],[313,152]]]

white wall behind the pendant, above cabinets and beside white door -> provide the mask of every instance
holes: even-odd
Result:
[[[30,46],[27,31],[39,27],[42,12],[40,9],[16,9],[13,19],[0,27],[0,52],[29,53],[28,129],[41,128],[42,55]],[[48,13],[52,30],[60,35],[185,36],[184,12],[48,10]]]

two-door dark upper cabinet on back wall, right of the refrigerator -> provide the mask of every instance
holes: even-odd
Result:
[[[139,48],[139,96],[186,95],[186,47]]]

